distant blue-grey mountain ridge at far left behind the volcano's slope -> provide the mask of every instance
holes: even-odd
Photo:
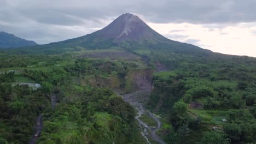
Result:
[[[0,48],[14,48],[29,45],[37,45],[34,41],[21,39],[14,34],[0,32]]]

